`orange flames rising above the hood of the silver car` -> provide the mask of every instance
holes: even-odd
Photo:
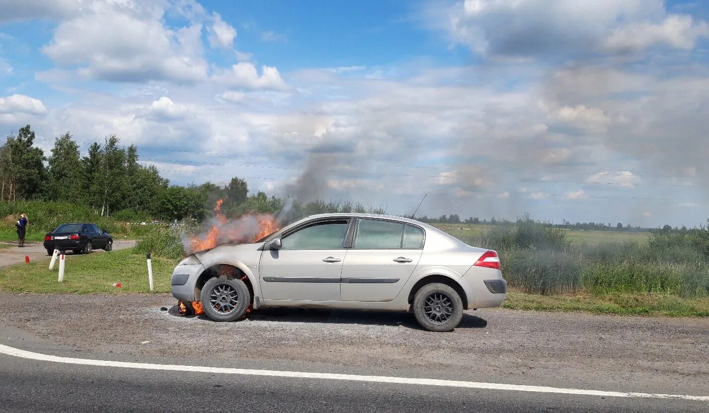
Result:
[[[260,214],[260,215],[244,215],[242,217],[236,217],[235,220],[239,220],[245,217],[253,217],[257,220],[257,230],[253,233],[252,230],[244,233],[244,231],[239,230],[238,225],[229,225],[230,220],[221,212],[223,199],[216,202],[214,206],[214,212],[216,223],[209,230],[201,234],[201,236],[192,237],[189,240],[191,251],[201,251],[203,249],[214,248],[219,244],[235,243],[241,244],[244,242],[255,242],[257,239],[261,239],[272,232],[279,229],[278,222],[273,215],[270,214]]]

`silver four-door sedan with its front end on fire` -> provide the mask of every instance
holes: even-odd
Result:
[[[182,310],[215,321],[272,306],[412,310],[423,328],[447,332],[463,310],[496,307],[506,293],[495,251],[388,215],[313,215],[196,252],[172,273]]]

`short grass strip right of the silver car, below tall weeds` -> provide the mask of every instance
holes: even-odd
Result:
[[[537,295],[510,291],[503,307],[515,310],[594,312],[654,317],[709,317],[709,298],[653,293]]]

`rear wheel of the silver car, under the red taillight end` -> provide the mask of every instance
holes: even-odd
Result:
[[[463,300],[450,285],[426,284],[413,298],[413,315],[430,332],[450,332],[463,317]]]

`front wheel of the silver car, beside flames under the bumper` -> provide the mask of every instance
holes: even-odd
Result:
[[[204,284],[200,299],[207,317],[214,321],[235,321],[249,308],[251,294],[241,280],[216,277]]]

